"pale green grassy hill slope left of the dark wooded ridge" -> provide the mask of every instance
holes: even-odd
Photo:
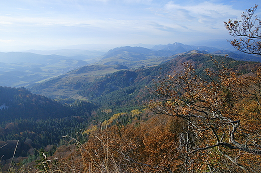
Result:
[[[127,67],[123,65],[87,65],[38,83],[30,90],[51,98],[80,98],[77,92],[83,82],[93,82],[108,73],[125,68]]]

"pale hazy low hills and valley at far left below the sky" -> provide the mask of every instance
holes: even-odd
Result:
[[[95,61],[96,56],[0,52],[0,85],[28,86]]]

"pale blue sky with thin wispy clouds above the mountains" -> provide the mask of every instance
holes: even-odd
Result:
[[[258,1],[1,0],[0,51],[226,40],[223,22]]]

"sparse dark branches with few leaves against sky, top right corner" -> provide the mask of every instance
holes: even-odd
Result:
[[[242,20],[229,19],[224,24],[230,35],[240,36],[239,39],[229,41],[232,46],[245,53],[261,55],[261,20],[254,15],[257,6],[242,12]]]

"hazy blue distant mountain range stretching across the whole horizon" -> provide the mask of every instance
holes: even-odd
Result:
[[[35,83],[64,74],[87,64],[123,65],[123,68],[158,65],[172,59],[173,55],[179,55],[191,50],[216,55],[227,54],[229,57],[237,60],[261,61],[257,55],[241,53],[237,50],[230,51],[208,46],[187,45],[179,42],[166,45],[159,44],[152,46],[152,48],[121,46],[110,49],[106,53],[82,49],[0,52],[0,85],[16,87],[32,86]],[[110,71],[114,72],[114,70]],[[102,74],[105,73],[106,71],[102,72]]]

